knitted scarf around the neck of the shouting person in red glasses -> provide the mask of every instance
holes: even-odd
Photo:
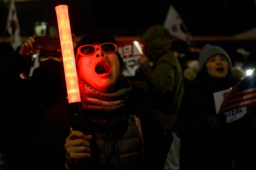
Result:
[[[88,86],[83,80],[78,81],[82,107],[87,110],[109,112],[119,109],[125,105],[131,90],[129,87],[119,89],[114,93],[104,93]]]

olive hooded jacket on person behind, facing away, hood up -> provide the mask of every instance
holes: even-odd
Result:
[[[133,87],[145,96],[153,116],[172,132],[184,93],[181,65],[171,50],[171,34],[161,25],[149,28],[142,36],[147,44],[146,55],[153,66],[143,64]],[[139,96],[139,95],[137,95]]]

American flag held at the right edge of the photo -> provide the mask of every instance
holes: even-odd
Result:
[[[251,106],[256,103],[256,71],[244,80],[236,84],[228,96],[223,100],[219,113],[225,113],[229,110],[241,107]]]

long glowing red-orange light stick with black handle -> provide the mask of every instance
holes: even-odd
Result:
[[[67,5],[55,7],[59,27],[60,47],[65,71],[66,87],[69,100],[69,123],[73,130],[84,132],[84,113],[79,93],[78,77],[76,74],[75,55]]]

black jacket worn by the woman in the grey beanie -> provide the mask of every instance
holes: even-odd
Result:
[[[226,118],[216,114],[213,93],[235,85],[229,79],[217,82],[200,74],[185,81],[185,94],[177,118],[177,135],[181,138],[180,169],[227,169],[230,153],[226,136]]]

